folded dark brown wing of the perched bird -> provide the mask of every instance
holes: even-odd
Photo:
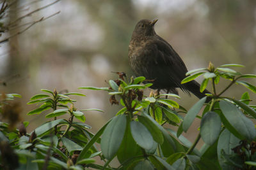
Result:
[[[160,83],[164,85],[179,87],[180,89],[187,92],[186,87],[180,84],[180,81],[186,77],[186,68],[182,59],[173,50],[172,46],[169,45],[162,38],[152,40],[147,45],[146,55],[154,55],[154,73],[160,76]],[[160,74],[160,75],[159,75]]]

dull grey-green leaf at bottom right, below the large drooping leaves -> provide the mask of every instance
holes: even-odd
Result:
[[[236,138],[232,133],[225,129],[221,132],[220,138],[218,139],[218,146],[217,146],[217,153],[218,153],[218,160],[220,162],[220,166],[222,169],[235,169],[234,166],[227,164],[226,159],[221,156],[221,151],[225,153],[234,154],[232,148],[235,148],[239,144],[240,139]]]

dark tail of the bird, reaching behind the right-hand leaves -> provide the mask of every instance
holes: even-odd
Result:
[[[188,83],[184,84],[186,89],[188,89],[190,92],[192,92],[196,97],[198,97],[199,99],[205,97],[206,93],[211,94],[211,92],[209,92],[208,90],[204,90],[204,92],[200,92],[200,84],[197,83],[195,80],[193,81],[189,81]],[[207,102],[210,100],[209,97],[207,97]]]

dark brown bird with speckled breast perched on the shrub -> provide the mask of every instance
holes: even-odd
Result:
[[[136,76],[144,76],[144,83],[152,83],[151,89],[165,90],[178,94],[177,88],[190,96],[192,92],[201,99],[208,90],[200,92],[200,84],[195,80],[181,84],[186,78],[188,69],[173,50],[172,46],[156,34],[154,30],[155,20],[140,20],[132,32],[129,43],[129,62]]]

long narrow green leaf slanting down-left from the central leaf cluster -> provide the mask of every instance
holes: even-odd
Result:
[[[109,122],[111,122],[111,120],[109,120]],[[93,136],[93,138],[90,139],[90,141],[88,141],[88,143],[86,143],[86,145],[84,146],[83,150],[81,151],[81,153],[77,157],[77,161],[85,158],[86,153],[93,146],[93,144],[100,138],[100,136],[102,135],[102,133],[106,129],[106,127],[109,124],[109,122],[107,124],[105,124],[102,128],[100,128],[100,130]]]

